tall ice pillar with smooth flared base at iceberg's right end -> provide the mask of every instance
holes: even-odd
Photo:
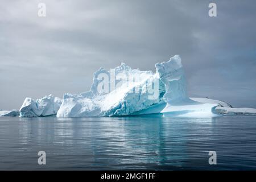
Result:
[[[160,113],[164,117],[213,117],[217,113],[214,108],[218,104],[201,103],[191,100],[187,96],[185,74],[180,56],[171,57],[167,62],[155,64],[156,74],[166,88],[163,98],[166,106]]]

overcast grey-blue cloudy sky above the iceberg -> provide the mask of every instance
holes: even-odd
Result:
[[[180,55],[189,97],[256,108],[256,1],[0,0],[0,109],[89,90],[100,67]],[[38,3],[46,17],[38,16]],[[208,15],[209,3],[217,17]]]

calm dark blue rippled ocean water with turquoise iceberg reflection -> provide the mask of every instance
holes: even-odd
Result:
[[[0,118],[0,169],[255,170],[256,117]]]

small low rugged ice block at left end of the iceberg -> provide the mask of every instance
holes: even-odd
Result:
[[[33,100],[27,97],[20,107],[20,117],[44,117],[56,115],[61,105],[61,98],[52,95]]]

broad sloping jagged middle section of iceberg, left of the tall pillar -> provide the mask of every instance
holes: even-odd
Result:
[[[131,69],[122,63],[94,73],[89,92],[64,94],[57,117],[130,115],[162,101],[165,88],[157,74]]]

